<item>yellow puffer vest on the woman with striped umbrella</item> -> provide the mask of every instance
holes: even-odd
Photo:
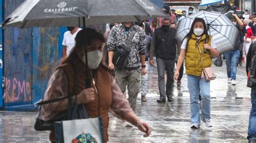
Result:
[[[203,54],[203,63],[204,67],[211,67],[212,66],[212,59],[211,59],[211,53],[207,51],[207,53],[204,53],[204,46],[205,44],[205,38],[206,35],[203,35],[203,37],[199,41],[199,47],[201,49],[201,52]],[[207,42],[208,45],[211,46],[211,39],[212,37],[209,36],[209,40]],[[199,52],[198,47],[196,47],[196,43],[199,39],[197,39],[196,35],[192,35],[192,38],[188,41],[187,49],[186,49],[186,60],[185,60],[185,67],[186,67],[186,74],[188,75],[195,75],[195,76],[201,76],[203,71],[203,66],[201,63],[201,55]]]

